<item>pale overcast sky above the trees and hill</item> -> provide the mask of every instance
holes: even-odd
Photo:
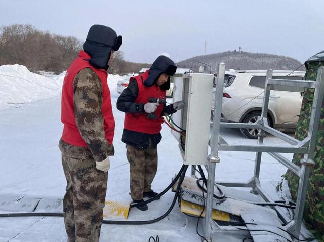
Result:
[[[125,59],[178,61],[238,50],[304,62],[324,50],[324,0],[0,0],[0,25],[31,24],[84,42],[93,24],[123,36]],[[225,63],[226,64],[226,63]]]

